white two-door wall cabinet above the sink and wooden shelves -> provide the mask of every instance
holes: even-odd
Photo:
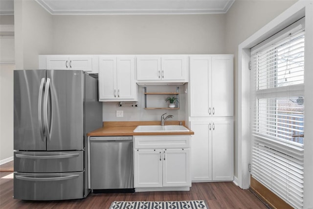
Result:
[[[138,82],[187,82],[185,55],[137,56]]]

